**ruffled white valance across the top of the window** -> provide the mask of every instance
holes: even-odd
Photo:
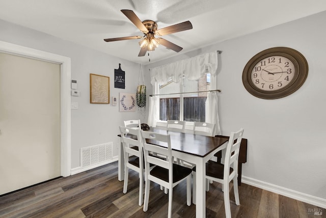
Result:
[[[214,51],[171,64],[155,67],[150,69],[150,71],[151,77],[154,77],[157,83],[161,85],[166,84],[170,78],[178,83],[181,78],[198,80],[205,73],[215,75],[217,68],[218,53]]]

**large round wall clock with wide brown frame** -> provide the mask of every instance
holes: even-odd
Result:
[[[288,96],[298,90],[308,76],[305,57],[292,48],[265,49],[252,57],[242,72],[247,91],[264,99]]]

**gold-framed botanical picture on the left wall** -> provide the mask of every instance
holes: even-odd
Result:
[[[90,73],[90,102],[110,103],[110,77]]]

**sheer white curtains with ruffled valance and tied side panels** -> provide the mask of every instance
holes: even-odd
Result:
[[[152,68],[150,71],[154,94],[159,94],[159,85],[166,84],[169,79],[172,79],[176,83],[178,83],[182,78],[187,78],[188,80],[198,80],[205,73],[210,73],[210,88],[214,90],[217,88],[217,69],[218,53],[216,51],[174,62],[168,65]],[[206,122],[216,123],[216,134],[221,132],[217,110],[218,96],[216,93],[209,93],[206,99]],[[149,112],[148,125],[155,126],[156,121],[159,120],[159,97],[150,97]]]

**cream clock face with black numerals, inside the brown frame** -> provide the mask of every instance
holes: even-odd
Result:
[[[264,91],[282,89],[291,83],[294,76],[293,62],[283,56],[264,58],[251,71],[252,84]]]

